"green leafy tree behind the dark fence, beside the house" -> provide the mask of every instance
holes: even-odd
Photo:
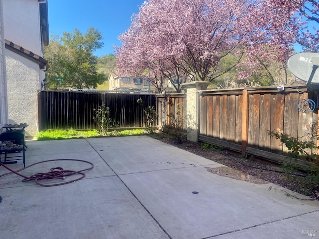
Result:
[[[97,57],[93,52],[103,46],[102,34],[91,27],[84,35],[74,29],[73,33],[64,32],[63,36],[51,38],[45,47],[44,57],[48,60],[46,71],[47,88],[96,88],[105,80],[105,75],[97,71]]]

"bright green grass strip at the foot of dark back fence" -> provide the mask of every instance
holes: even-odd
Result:
[[[106,137],[115,136],[134,136],[134,135],[145,135],[147,134],[144,129],[132,129],[123,131],[111,131],[107,132]],[[90,131],[77,131],[74,129],[69,130],[47,130],[39,132],[35,138],[39,141],[45,140],[61,140],[61,139],[75,139],[75,138],[96,138],[102,137],[100,131],[94,129]]]

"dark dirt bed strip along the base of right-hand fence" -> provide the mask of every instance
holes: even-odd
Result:
[[[319,185],[316,181],[306,180],[307,173],[303,171],[284,168],[281,165],[258,158],[245,158],[219,147],[206,148],[207,144],[200,142],[193,143],[183,140],[182,143],[179,143],[173,136],[163,132],[155,133],[152,137],[231,168],[207,168],[212,173],[253,183],[271,182],[310,196],[313,200],[319,200]]]

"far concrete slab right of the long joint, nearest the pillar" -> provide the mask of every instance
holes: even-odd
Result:
[[[134,143],[141,140],[142,145],[140,146],[134,145],[133,147],[128,141],[125,141],[122,150],[119,150],[118,146],[114,149],[111,146],[114,142],[110,142],[108,138],[101,141],[88,139],[88,141],[118,175],[195,166],[223,166],[201,156],[190,155],[185,150],[172,147],[156,139],[148,137],[145,140],[144,137],[136,137],[136,140],[132,140]],[[102,150],[103,145],[107,146],[104,146]],[[142,148],[137,150],[137,147]]]

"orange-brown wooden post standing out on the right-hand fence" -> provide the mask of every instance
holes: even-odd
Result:
[[[243,108],[242,108],[242,131],[241,131],[241,154],[246,155],[248,146],[248,117],[249,117],[249,94],[243,90]]]

